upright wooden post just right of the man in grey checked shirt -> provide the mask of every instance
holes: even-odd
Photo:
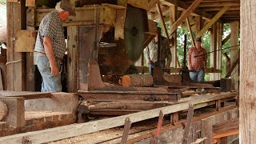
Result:
[[[67,92],[77,91],[78,26],[67,26]]]

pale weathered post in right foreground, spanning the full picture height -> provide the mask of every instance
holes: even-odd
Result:
[[[251,18],[256,14],[256,1],[245,0],[241,2],[241,76],[240,76],[240,90],[239,90],[239,141],[240,143],[254,143],[256,142],[256,106],[254,103],[256,99],[256,67],[253,62],[256,62],[256,45],[255,36],[256,29],[254,29],[254,22],[256,19]],[[231,22],[231,38],[233,38],[234,31],[232,29],[238,28],[238,22]],[[231,39],[231,46],[234,45],[234,40]],[[238,54],[238,50],[231,51],[231,57]],[[234,59],[231,60],[234,62]],[[250,135],[250,137],[249,137]]]

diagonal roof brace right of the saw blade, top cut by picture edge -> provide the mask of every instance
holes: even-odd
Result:
[[[182,24],[182,22],[191,14],[193,10],[195,10],[198,5],[202,2],[202,0],[195,0],[190,7],[182,14],[180,18],[170,27],[170,34],[174,33],[174,30],[177,30],[178,26]]]

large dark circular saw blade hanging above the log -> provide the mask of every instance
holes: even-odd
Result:
[[[133,62],[136,62],[143,52],[147,26],[146,10],[127,5],[124,38],[128,58]]]

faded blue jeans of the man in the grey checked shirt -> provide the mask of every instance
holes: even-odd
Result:
[[[41,91],[51,91],[51,92],[61,92],[62,91],[62,82],[61,74],[58,74],[56,77],[51,75],[50,62],[46,55],[37,54],[36,58],[38,64],[38,70],[42,75],[42,89]],[[60,65],[59,59],[56,58],[58,67]]]

